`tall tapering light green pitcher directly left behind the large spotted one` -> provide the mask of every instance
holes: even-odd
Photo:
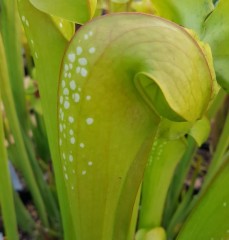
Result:
[[[63,216],[65,237],[70,239],[70,237],[74,237],[74,230],[71,224],[68,201],[66,200],[66,189],[63,182],[59,152],[57,151],[57,89],[62,56],[68,44],[66,37],[69,37],[69,29],[72,29],[73,34],[73,26],[69,22],[61,21],[63,30],[60,31],[50,16],[34,8],[28,0],[19,0],[18,6],[34,57],[44,121],[56,176],[58,198]],[[62,32],[65,31],[65,28],[68,31],[63,35]]]

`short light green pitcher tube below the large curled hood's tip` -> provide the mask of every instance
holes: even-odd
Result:
[[[158,138],[154,142],[144,174],[139,229],[161,226],[171,179],[185,149],[183,139]]]

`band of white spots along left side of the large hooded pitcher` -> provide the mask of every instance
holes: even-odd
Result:
[[[68,191],[77,189],[77,178],[87,179],[83,176],[91,174],[96,165],[93,158],[88,156],[88,138],[82,139],[83,131],[91,131],[94,117],[91,112],[84,113],[83,110],[81,113],[81,108],[82,104],[90,106],[96,98],[84,85],[91,77],[91,60],[98,50],[93,42],[95,34],[90,30],[80,32],[81,37],[75,46],[69,47],[63,60],[58,101],[59,145]],[[84,130],[78,132],[82,127]]]

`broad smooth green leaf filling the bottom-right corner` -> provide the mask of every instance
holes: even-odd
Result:
[[[228,239],[229,164],[213,179],[191,212],[177,240]]]

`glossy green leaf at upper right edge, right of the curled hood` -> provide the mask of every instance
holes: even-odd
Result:
[[[229,2],[220,0],[204,24],[202,39],[212,49],[217,81],[229,91]]]

